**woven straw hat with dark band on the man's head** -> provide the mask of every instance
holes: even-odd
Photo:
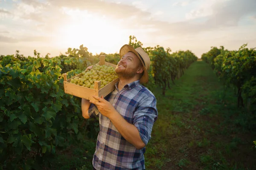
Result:
[[[120,58],[122,58],[126,53],[130,51],[137,55],[137,57],[140,59],[144,68],[144,74],[140,78],[140,83],[148,82],[148,69],[150,66],[150,58],[148,54],[141,47],[134,49],[131,45],[125,44],[120,48],[120,51],[119,51]]]

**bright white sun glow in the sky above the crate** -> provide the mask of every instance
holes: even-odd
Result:
[[[99,53],[111,52],[110,47],[120,46],[120,37],[124,37],[124,32],[112,20],[102,15],[88,14],[87,11],[68,8],[64,8],[63,11],[70,18],[67,24],[60,26],[58,30],[56,43],[59,47],[79,48],[83,44],[88,51]]]

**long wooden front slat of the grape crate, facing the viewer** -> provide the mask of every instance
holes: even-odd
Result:
[[[66,94],[71,94],[73,96],[93,101],[97,101],[93,98],[93,95],[99,96],[98,91],[94,89],[86,88],[80,85],[75,85],[69,82],[64,82],[64,91]]]

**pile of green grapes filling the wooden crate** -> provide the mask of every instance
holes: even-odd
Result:
[[[118,78],[115,68],[107,65],[94,65],[92,69],[84,71],[80,77],[70,79],[70,82],[87,88],[94,88],[95,81],[101,81],[101,88]]]

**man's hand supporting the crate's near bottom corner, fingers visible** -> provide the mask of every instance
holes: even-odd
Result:
[[[105,100],[103,96],[100,98],[98,96],[93,96],[95,99],[97,99],[99,102],[90,100],[90,103],[93,103],[98,108],[99,112],[102,113],[103,116],[110,117],[111,114],[113,114],[116,109],[113,107],[113,105]]]

